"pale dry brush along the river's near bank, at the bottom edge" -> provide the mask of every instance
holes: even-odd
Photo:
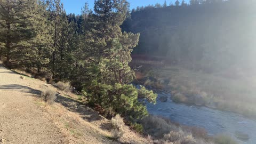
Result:
[[[150,139],[152,137],[155,139],[154,143],[158,144],[222,144],[222,140],[234,141],[226,135],[219,135],[213,139],[202,128],[182,126],[152,115],[142,119],[141,124],[144,127],[145,134],[150,135]]]

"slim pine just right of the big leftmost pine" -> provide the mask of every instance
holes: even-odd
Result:
[[[49,12],[46,11],[47,4],[44,1],[38,1],[35,10],[36,17],[34,17],[34,29],[36,37],[31,41],[31,49],[27,67],[36,66],[37,72],[41,71],[42,67],[49,65],[53,49],[51,47],[52,39],[50,35],[51,25]]]

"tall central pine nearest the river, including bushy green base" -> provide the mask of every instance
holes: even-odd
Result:
[[[139,34],[122,33],[120,26],[125,20],[127,2],[124,0],[95,1],[91,17],[89,40],[93,63],[90,81],[85,83],[84,93],[91,103],[98,103],[109,113],[119,113],[127,119],[147,115],[146,107],[138,101],[138,91],[130,85],[134,71],[129,67],[132,48],[138,44]],[[88,41],[88,40],[87,40]],[[155,102],[153,92],[143,91]],[[130,115],[130,116],[129,116]]]

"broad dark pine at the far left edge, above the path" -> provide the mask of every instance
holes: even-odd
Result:
[[[0,1],[1,55],[7,66],[28,60],[30,40],[36,37],[33,28],[36,1]]]

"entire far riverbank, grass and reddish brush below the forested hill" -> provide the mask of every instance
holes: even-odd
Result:
[[[136,71],[137,83],[168,90],[175,102],[234,111],[255,118],[256,78],[223,75],[178,66],[156,68],[144,65],[140,71]]]

